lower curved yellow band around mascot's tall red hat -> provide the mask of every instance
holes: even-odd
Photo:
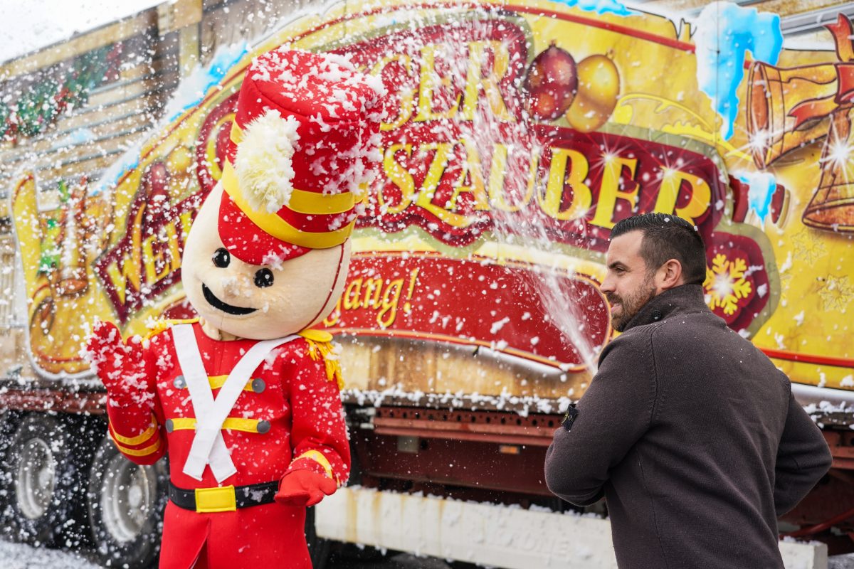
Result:
[[[240,190],[240,184],[237,182],[237,173],[235,173],[234,166],[231,165],[231,162],[228,162],[227,160],[222,173],[222,186],[225,189],[225,193],[231,196],[235,205],[240,208],[240,211],[242,211],[247,218],[252,220],[252,223],[260,227],[260,229],[265,231],[268,235],[272,235],[276,239],[287,243],[299,245],[300,247],[326,249],[329,247],[336,247],[336,245],[341,245],[344,241],[347,241],[350,234],[353,233],[353,228],[356,224],[356,220],[354,219],[344,227],[332,231],[301,231],[286,222],[284,219],[278,217],[274,212],[259,212],[253,209],[252,206],[249,206],[249,203],[243,198],[243,193]],[[303,193],[309,194],[310,192]],[[315,194],[314,196],[319,200],[337,197],[337,195],[328,196],[322,194]],[[327,213],[328,209],[329,208],[322,208],[321,211],[315,212],[300,212],[296,209],[294,211],[309,213],[311,215],[320,215]],[[332,207],[332,209],[334,210],[335,207]],[[346,212],[348,210],[345,209],[344,211]]]

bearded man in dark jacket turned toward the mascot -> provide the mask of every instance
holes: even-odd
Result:
[[[623,334],[554,435],[549,489],[578,506],[605,496],[621,568],[782,567],[777,516],[828,471],[822,433],[786,375],[706,307],[691,224],[625,219],[606,264]]]

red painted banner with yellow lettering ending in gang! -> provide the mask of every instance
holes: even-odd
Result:
[[[360,334],[480,345],[562,369],[582,369],[583,351],[598,353],[611,332],[610,312],[595,282],[551,273],[566,310],[590,345],[576,346],[542,305],[535,282],[543,270],[491,259],[437,254],[357,255],[335,311],[333,334]],[[580,353],[581,351],[581,353]]]

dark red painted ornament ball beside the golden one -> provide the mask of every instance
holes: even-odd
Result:
[[[525,76],[528,111],[538,120],[558,119],[576,96],[576,61],[552,42],[531,61]]]

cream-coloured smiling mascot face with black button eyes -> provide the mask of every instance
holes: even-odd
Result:
[[[229,334],[270,340],[322,321],[341,296],[350,241],[277,264],[248,264],[228,252],[217,221],[220,184],[196,216],[184,245],[181,281],[190,304]]]

